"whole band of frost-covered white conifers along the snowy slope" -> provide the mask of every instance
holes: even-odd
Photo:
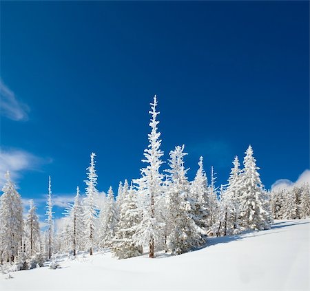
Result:
[[[75,256],[110,248],[118,259],[156,252],[179,255],[207,245],[207,237],[236,235],[244,230],[265,230],[273,219],[310,216],[309,184],[276,192],[266,191],[251,146],[242,166],[234,158],[227,184],[216,186],[214,169],[208,182],[203,157],[193,181],[187,178],[185,146],[169,152],[168,169],[161,171],[163,151],[158,131],[157,100],[151,104],[149,145],[144,151],[141,177],[120,182],[102,197],[96,188],[95,153],[90,155],[85,195],[76,188],[73,203],[65,208],[64,224],[54,230],[52,183],[48,181],[47,228],[39,228],[33,200],[23,217],[21,196],[6,173],[0,197],[0,260],[16,270],[36,268],[56,254]],[[116,199],[115,199],[116,196]]]

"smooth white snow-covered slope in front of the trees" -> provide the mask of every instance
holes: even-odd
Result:
[[[61,269],[1,274],[0,290],[309,290],[309,230],[309,219],[276,221],[176,257],[79,256]]]

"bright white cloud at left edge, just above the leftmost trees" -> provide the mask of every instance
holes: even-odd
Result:
[[[10,171],[12,180],[17,182],[23,171],[38,171],[42,164],[51,161],[50,159],[39,158],[21,149],[0,148],[0,186],[5,182],[6,171]]]

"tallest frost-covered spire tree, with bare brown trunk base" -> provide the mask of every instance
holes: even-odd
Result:
[[[152,115],[149,126],[152,128],[151,133],[148,135],[149,146],[144,151],[145,160],[142,162],[147,163],[147,166],[141,169],[142,177],[134,182],[138,187],[138,195],[141,198],[140,208],[143,212],[143,219],[137,226],[137,231],[134,234],[136,244],[142,245],[149,244],[149,257],[154,257],[154,250],[156,241],[161,241],[162,229],[164,223],[158,218],[160,215],[157,207],[158,201],[163,196],[163,175],[159,172],[159,168],[163,161],[163,151],[161,151],[161,133],[158,132],[156,120],[159,112],[156,111],[157,99],[154,96],[154,102],[151,103]]]

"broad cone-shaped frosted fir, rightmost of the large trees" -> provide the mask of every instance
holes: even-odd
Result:
[[[245,151],[244,169],[240,173],[240,224],[243,229],[270,228],[267,195],[260,181],[251,146]]]

